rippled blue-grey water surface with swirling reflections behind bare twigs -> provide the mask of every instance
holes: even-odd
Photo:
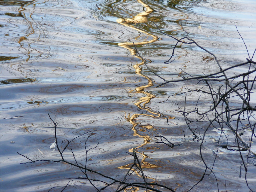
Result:
[[[163,80],[146,68],[132,42],[148,66],[165,79],[178,78],[179,68],[191,74],[213,72],[217,66],[212,58],[192,45],[178,46],[175,61],[164,64],[176,42],[161,34],[153,21],[168,34],[182,38],[186,35],[179,23],[182,20],[190,37],[227,67],[247,57],[234,24],[250,54],[255,48],[255,10],[253,0],[0,1],[1,191],[48,191],[81,175],[63,163],[19,164],[28,160],[16,151],[34,160],[60,158],[56,148],[49,148],[55,138],[48,113],[58,122],[60,141],[84,130],[94,131],[88,147],[99,145],[88,154],[90,168],[121,179],[133,162],[126,152],[135,148],[150,182],[188,190],[204,172],[200,142],[191,141],[183,115],[175,111],[184,105],[185,96],[165,100],[182,87],[200,85],[168,83],[155,88]],[[204,97],[202,108],[209,105],[208,96]],[[197,98],[196,93],[187,94],[191,106]],[[180,145],[169,148],[156,143],[159,135]],[[215,142],[210,139],[215,137],[218,133],[213,130],[202,149],[209,162],[215,157]],[[84,141],[72,144],[81,162],[86,157]],[[249,191],[244,177],[239,178],[237,155],[227,150],[218,155],[219,191]],[[65,156],[72,160],[70,151]],[[256,190],[254,167],[247,177]],[[131,180],[139,178],[139,174],[131,176]],[[66,191],[95,190],[83,179],[73,183],[78,189]],[[192,191],[217,191],[215,178],[206,176]]]

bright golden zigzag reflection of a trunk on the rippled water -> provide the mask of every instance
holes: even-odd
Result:
[[[136,24],[136,23],[147,23],[148,22],[148,15],[150,15],[154,11],[151,7],[149,7],[147,4],[143,3],[141,0],[137,0],[137,1],[140,4],[142,4],[146,10],[142,13],[137,14],[133,18],[117,19],[116,22],[120,23],[123,26],[135,29],[136,31],[143,33],[143,34],[140,34],[139,36],[137,36],[135,38],[135,40],[138,40],[140,37],[145,36],[145,34],[146,34],[146,36],[147,36],[146,40],[141,41],[141,42],[134,42],[135,46],[136,45],[145,45],[145,44],[149,44],[149,43],[156,42],[156,41],[160,40],[159,37],[157,37],[155,35],[152,35],[150,33],[147,33],[146,31],[138,29],[138,28],[136,28],[132,25],[132,24]],[[148,39],[150,39],[150,40],[148,40]],[[138,63],[136,65],[133,65],[133,68],[135,69],[135,73],[137,75],[140,75],[140,76],[142,76],[142,77],[144,77],[145,79],[148,80],[147,85],[137,87],[135,89],[136,91],[133,92],[133,94],[142,93],[142,94],[145,95],[144,97],[141,97],[139,99],[139,101],[137,101],[135,103],[135,105],[138,107],[138,109],[146,110],[146,112],[148,112],[149,114],[137,113],[137,114],[133,114],[133,115],[128,115],[127,120],[132,124],[132,130],[134,132],[133,135],[141,137],[141,138],[144,139],[143,144],[141,144],[140,146],[135,147],[135,152],[139,153],[143,156],[143,158],[141,160],[141,167],[142,168],[157,168],[157,167],[159,167],[158,165],[146,162],[146,158],[148,158],[148,156],[145,155],[144,152],[139,152],[138,151],[139,148],[141,148],[141,147],[143,147],[143,146],[152,142],[152,140],[150,138],[150,135],[148,135],[148,133],[152,132],[152,131],[156,131],[156,128],[152,125],[139,125],[140,123],[136,122],[136,118],[138,118],[140,116],[146,116],[148,118],[160,118],[161,117],[160,113],[154,112],[150,107],[146,107],[146,104],[150,103],[151,99],[156,97],[154,94],[148,93],[147,91],[145,91],[146,88],[149,88],[149,87],[153,86],[153,80],[141,73],[142,72],[142,67],[141,66],[144,65],[144,62],[143,62],[141,57],[136,55],[136,50],[134,48],[132,48],[134,46],[133,42],[121,42],[118,45],[120,47],[128,49],[134,57],[141,60],[140,63]],[[151,61],[148,61],[148,63],[149,62],[151,62]],[[131,92],[132,91],[130,91],[130,93]],[[174,119],[174,117],[169,117],[168,119]],[[154,151],[155,149],[157,149],[157,147],[148,147],[148,149],[151,149],[151,150],[153,149],[153,151]],[[129,152],[133,152],[133,149],[130,149]],[[118,168],[120,168],[120,169],[129,169],[129,167],[131,165],[132,165],[132,163],[128,164],[128,165],[118,167]],[[141,174],[137,170],[132,169],[132,171],[134,171],[136,173],[136,175],[138,175],[139,177],[142,177]],[[151,179],[154,179],[154,178],[151,178]],[[137,191],[139,189],[136,188],[135,190]]]

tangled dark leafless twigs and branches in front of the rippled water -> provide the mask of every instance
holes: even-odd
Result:
[[[182,23],[181,23],[182,25]],[[156,25],[158,28],[158,26]],[[183,26],[182,26],[183,28]],[[158,28],[159,29],[159,28]],[[183,29],[184,30],[184,29]],[[256,79],[256,67],[255,64],[256,62],[252,61],[252,58],[254,56],[254,53],[252,56],[249,55],[249,51],[247,50],[248,57],[246,62],[230,66],[228,68],[222,68],[220,61],[217,59],[217,57],[204,47],[200,46],[194,39],[189,38],[189,33],[187,33],[185,30],[184,32],[187,34],[186,37],[183,37],[181,39],[177,39],[173,36],[170,36],[166,33],[164,33],[161,29],[159,31],[167,35],[177,41],[175,44],[172,55],[170,56],[170,59],[166,61],[165,63],[171,63],[174,61],[173,56],[175,55],[175,49],[179,43],[182,44],[194,44],[200,49],[204,50],[208,54],[210,54],[215,62],[216,66],[218,66],[218,71],[211,73],[211,74],[204,74],[204,75],[193,75],[190,74],[182,69],[181,72],[183,73],[183,76],[180,75],[180,79],[176,80],[166,80],[165,78],[159,76],[157,73],[152,71],[150,67],[147,65],[145,59],[142,58],[142,56],[139,54],[137,48],[135,47],[135,50],[141,60],[144,62],[145,66],[147,67],[148,70],[150,70],[155,76],[161,78],[164,83],[159,84],[157,87],[161,87],[167,83],[177,83],[177,82],[189,82],[189,81],[195,81],[197,84],[201,85],[200,89],[191,89],[188,87],[185,87],[182,89],[182,92],[179,92],[175,95],[171,95],[169,97],[177,96],[177,95],[184,95],[185,94],[185,104],[184,107],[181,108],[178,106],[177,112],[181,113],[184,117],[184,120],[186,122],[186,125],[188,127],[188,130],[191,131],[191,136],[193,137],[193,141],[199,141],[200,142],[200,157],[202,160],[202,163],[204,164],[204,173],[202,174],[201,178],[193,185],[190,189],[187,189],[186,192],[190,191],[193,189],[197,184],[199,184],[206,175],[213,174],[214,178],[216,179],[216,184],[218,188],[218,179],[215,175],[214,171],[214,165],[215,161],[218,157],[219,153],[219,148],[226,148],[227,150],[234,150],[238,151],[239,158],[241,159],[241,166],[240,166],[240,177],[242,175],[242,170],[244,171],[244,178],[247,184],[247,187],[253,191],[252,185],[249,184],[248,179],[247,179],[247,173],[248,173],[248,166],[250,165],[255,165],[251,163],[249,160],[250,159],[255,159],[256,158],[256,153],[251,150],[253,141],[256,138],[256,135],[254,133],[255,126],[256,126],[256,119],[254,117],[253,112],[256,111],[256,106],[255,104],[251,103],[251,94],[255,92],[255,79]],[[237,30],[238,31],[238,30]],[[240,33],[239,33],[240,35]],[[240,35],[241,36],[241,35]],[[242,37],[242,36],[241,36]],[[244,42],[244,41],[243,41]],[[244,43],[245,44],[245,43]],[[246,44],[245,44],[246,45]],[[135,45],[134,45],[135,46]],[[247,49],[247,46],[246,46]],[[236,75],[230,75],[229,71],[232,69],[238,68],[238,67],[247,67],[248,71],[243,72],[243,73],[238,73]],[[233,73],[232,73],[233,74]],[[193,110],[187,110],[186,109],[186,104],[187,104],[187,93],[193,93],[193,92],[199,92],[200,96],[196,99],[196,105],[193,107]],[[201,95],[208,95],[210,97],[210,102],[212,105],[204,110],[203,108],[199,108],[199,102],[201,99]],[[168,99],[169,99],[168,97]],[[168,99],[166,101],[168,101]],[[236,99],[236,100],[235,100]],[[163,101],[163,102],[166,102]],[[234,103],[236,103],[234,105]],[[159,112],[160,113],[160,112]],[[194,118],[195,120],[191,120],[192,118],[189,118],[190,115],[194,117],[195,115],[198,118]],[[121,178],[117,179],[109,175],[104,175],[98,171],[95,171],[91,169],[88,166],[87,160],[88,160],[88,152],[96,148],[98,144],[94,147],[88,148],[87,142],[88,139],[93,135],[92,131],[85,132],[72,140],[66,140],[66,145],[64,147],[60,147],[60,141],[58,141],[58,135],[56,133],[56,126],[57,123],[50,117],[50,120],[52,123],[54,123],[54,132],[55,132],[55,141],[56,141],[56,147],[58,149],[58,153],[60,154],[60,159],[59,160],[51,160],[51,159],[37,159],[37,160],[32,160],[31,158],[27,157],[26,155],[20,154],[23,157],[25,157],[29,162],[26,163],[36,163],[36,162],[42,162],[42,161],[47,161],[47,162],[53,162],[53,163],[59,163],[59,162],[64,162],[67,163],[73,167],[79,168],[81,172],[84,174],[84,177],[81,177],[80,179],[84,179],[91,184],[91,186],[94,187],[95,191],[103,191],[106,188],[115,189],[116,192],[121,192],[121,191],[127,191],[126,189],[130,189],[132,191],[137,191],[138,188],[140,189],[145,189],[145,191],[156,191],[156,192],[163,192],[163,191],[172,191],[175,192],[175,189],[172,189],[164,184],[158,184],[156,182],[148,182],[148,177],[144,173],[140,159],[137,156],[135,149],[133,149],[133,153],[129,153],[129,155],[133,156],[133,163],[129,165],[129,168],[126,172],[126,174]],[[166,118],[168,121],[168,118]],[[191,123],[194,122],[204,122],[207,124],[205,127],[203,133],[200,133],[199,129],[195,129],[191,126]],[[168,123],[168,122],[167,122]],[[204,145],[204,142],[206,140],[206,135],[208,132],[212,129],[217,129],[220,131],[220,136],[218,140],[216,140],[216,151],[215,153],[215,158],[214,161],[209,164],[205,161],[204,154],[202,153],[202,147]],[[241,131],[249,131],[250,135],[248,138],[243,137],[243,132]],[[185,140],[185,132],[184,133],[184,140]],[[230,138],[228,139],[227,133],[232,133],[233,134],[233,140],[230,141]],[[85,142],[84,142],[84,150],[85,150],[85,155],[86,159],[84,162],[78,162],[76,157],[75,157],[75,152],[71,148],[70,144],[72,142],[75,142],[76,139],[79,137],[85,137]],[[163,135],[158,136],[160,138],[159,142],[155,143],[162,143],[167,145],[170,148],[175,147],[175,144],[170,142],[168,138],[166,138]],[[190,141],[191,141],[190,140]],[[226,141],[226,145],[223,145],[220,143],[220,141]],[[73,161],[68,161],[66,160],[65,156],[63,155],[63,152],[69,148],[71,150],[71,155],[73,156]],[[243,153],[242,153],[243,152]],[[246,154],[244,154],[246,152]],[[25,164],[25,163],[23,163]],[[140,177],[137,182],[131,182],[129,180],[129,177],[133,174],[136,173]],[[97,177],[95,179],[94,177]],[[73,178],[74,179],[74,178]],[[77,179],[77,178],[76,178]],[[95,184],[97,182],[97,185]],[[100,185],[101,183],[102,185]],[[65,190],[67,187],[76,187],[75,184],[72,184],[68,182],[65,186],[57,186],[54,188],[59,188],[61,187],[62,190]],[[226,181],[225,181],[225,188],[226,188]],[[53,188],[51,188],[53,189]],[[49,191],[51,190],[49,189]],[[219,188],[218,188],[219,189]],[[185,191],[185,190],[184,190]]]

